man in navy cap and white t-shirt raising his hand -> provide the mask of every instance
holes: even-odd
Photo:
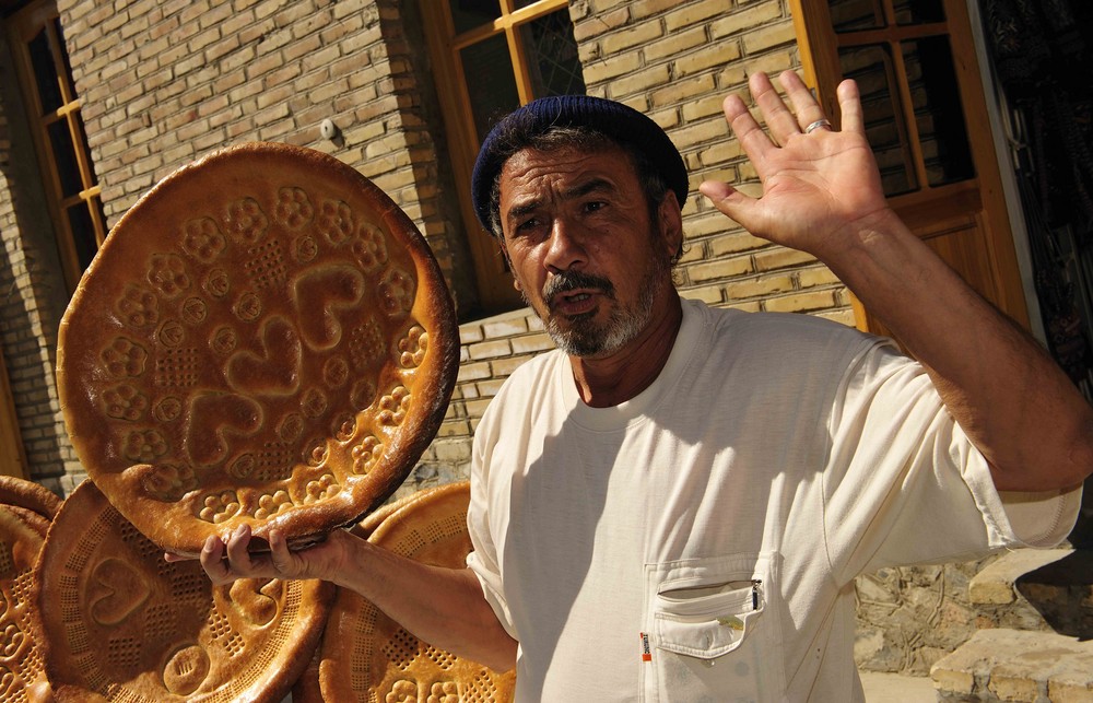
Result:
[[[520,700],[851,701],[855,576],[1066,537],[1093,410],[888,208],[855,84],[836,132],[781,82],[794,112],[750,83],[769,137],[725,101],[763,196],[700,189],[824,261],[920,363],[824,320],[681,301],[667,136],[615,103],[537,101],[486,139],[473,190],[559,351],[475,432],[468,569],[345,532],[252,556],[240,529],[205,546],[210,577],[334,581],[434,645],[515,663]]]

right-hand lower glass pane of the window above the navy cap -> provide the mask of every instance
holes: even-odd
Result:
[[[585,79],[569,12],[561,10],[520,27],[536,97],[583,94]]]

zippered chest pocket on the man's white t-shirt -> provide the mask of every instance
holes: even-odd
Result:
[[[777,591],[763,566],[752,556],[653,569],[646,701],[783,700],[779,628],[767,604]]]

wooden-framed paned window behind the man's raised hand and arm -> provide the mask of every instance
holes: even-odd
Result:
[[[826,114],[857,81],[889,202],[972,288],[1027,325],[965,0],[790,0]],[[858,326],[890,333],[855,301]]]

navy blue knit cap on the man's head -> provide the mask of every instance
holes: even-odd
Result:
[[[665,183],[675,192],[680,209],[686,201],[686,166],[675,144],[655,121],[636,109],[591,95],[556,95],[540,97],[509,113],[494,126],[482,142],[474,173],[471,176],[471,197],[479,222],[490,231],[490,194],[512,155],[512,147],[503,144],[503,137],[514,122],[521,136],[536,136],[552,127],[589,127],[610,139],[645,154]]]

